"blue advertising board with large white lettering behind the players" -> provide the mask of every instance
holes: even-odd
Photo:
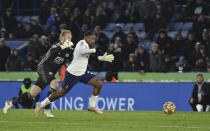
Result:
[[[17,96],[21,82],[0,82],[0,108],[5,100]],[[193,83],[105,83],[98,107],[101,110],[162,110],[162,105],[173,101],[178,111],[192,111],[188,100]],[[49,87],[43,90],[43,100]],[[52,109],[86,110],[92,87],[77,84],[65,97],[52,104]]]

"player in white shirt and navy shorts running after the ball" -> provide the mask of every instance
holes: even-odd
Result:
[[[102,88],[102,81],[99,80],[93,73],[87,71],[88,59],[91,53],[95,53],[96,49],[90,49],[89,46],[93,47],[95,43],[95,34],[92,32],[85,33],[84,40],[80,40],[74,49],[74,58],[72,63],[68,66],[64,81],[62,83],[62,88],[57,92],[51,94],[41,103],[36,104],[35,115],[38,115],[41,108],[49,105],[53,101],[63,97],[67,94],[72,87],[78,82],[84,82],[92,85],[93,92],[88,106],[89,111],[93,111],[97,114],[102,114],[103,112],[96,108],[96,102]],[[98,56],[98,60],[112,62],[114,56],[112,54],[103,56]]]

